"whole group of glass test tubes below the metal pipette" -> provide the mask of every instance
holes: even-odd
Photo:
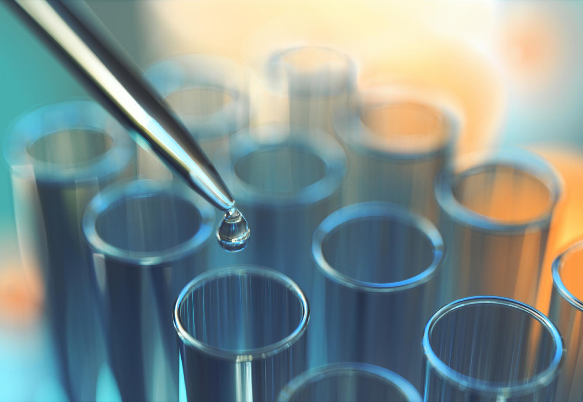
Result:
[[[20,252],[71,401],[105,371],[122,402],[583,400],[583,243],[545,265],[563,184],[543,157],[459,153],[447,97],[363,86],[332,48],[144,76],[252,235],[220,249],[219,212],[92,100],[15,122]]]

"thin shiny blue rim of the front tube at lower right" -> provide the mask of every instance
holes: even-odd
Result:
[[[541,323],[543,327],[545,327],[545,329],[548,330],[550,334],[552,334],[555,346],[554,355],[550,361],[549,366],[543,371],[537,373],[532,378],[522,380],[515,385],[509,386],[505,385],[505,383],[478,380],[470,376],[463,375],[462,373],[455,371],[443,361],[441,361],[441,359],[437,357],[436,352],[433,351],[433,348],[431,347],[431,341],[429,340],[433,327],[442,317],[447,315],[449,312],[475,304],[497,304],[508,308],[514,308],[528,314]],[[443,306],[436,313],[434,313],[434,315],[431,316],[427,322],[423,331],[422,347],[427,364],[429,364],[438,373],[438,375],[448,380],[448,382],[459,387],[460,389],[469,388],[477,392],[504,395],[505,397],[519,396],[522,394],[535,392],[537,389],[549,385],[559,374],[559,369],[562,364],[564,355],[563,338],[561,338],[559,330],[556,329],[549,318],[547,318],[543,313],[533,308],[532,306],[514,299],[499,296],[472,296],[458,299]]]

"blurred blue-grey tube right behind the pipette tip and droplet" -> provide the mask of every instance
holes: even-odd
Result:
[[[232,261],[283,271],[310,297],[310,237],[340,206],[346,171],[340,144],[325,133],[265,125],[232,136],[230,149],[216,156],[215,167],[254,230],[247,249]]]

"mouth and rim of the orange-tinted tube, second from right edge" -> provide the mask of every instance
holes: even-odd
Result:
[[[492,230],[548,224],[561,193],[560,177],[523,149],[469,154],[441,172],[436,198],[456,220]]]

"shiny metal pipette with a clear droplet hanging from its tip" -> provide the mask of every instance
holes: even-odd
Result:
[[[83,1],[8,2],[120,121],[210,204],[226,211],[217,239],[226,251],[241,251],[251,231],[223,179],[185,126],[171,114],[138,70],[118,54]],[[86,19],[85,22],[83,19]]]

